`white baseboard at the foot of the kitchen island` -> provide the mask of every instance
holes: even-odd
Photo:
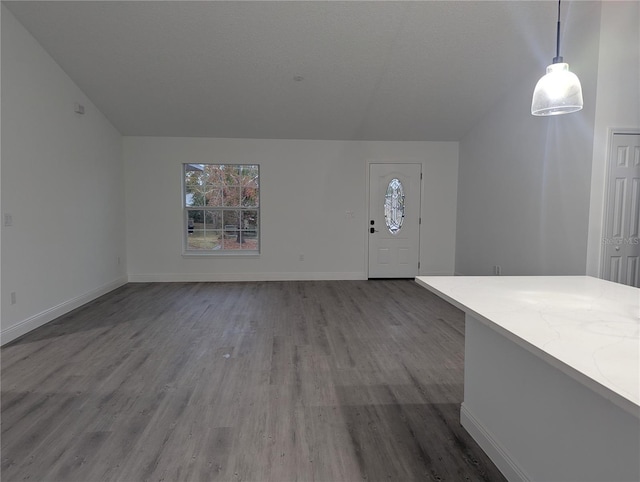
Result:
[[[496,467],[509,481],[527,482],[530,477],[520,468],[509,452],[493,437],[480,421],[473,416],[464,402],[460,407],[460,424],[484,450]]]

